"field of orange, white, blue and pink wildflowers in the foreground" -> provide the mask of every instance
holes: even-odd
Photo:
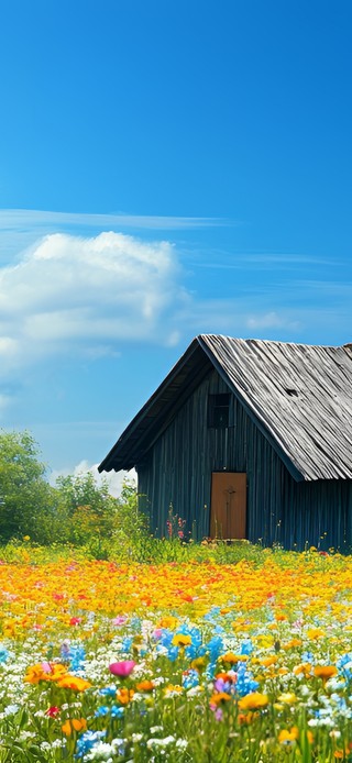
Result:
[[[352,559],[0,564],[0,762],[352,760]]]

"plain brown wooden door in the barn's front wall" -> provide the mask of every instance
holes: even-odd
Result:
[[[213,472],[211,475],[211,538],[245,538],[246,474]]]

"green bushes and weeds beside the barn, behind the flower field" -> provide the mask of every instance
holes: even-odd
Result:
[[[47,546],[54,557],[61,549],[64,556],[77,550],[87,559],[154,564],[235,564],[241,560],[256,564],[263,559],[263,550],[246,542],[186,542],[185,521],[172,506],[167,538],[155,539],[133,480],[123,483],[119,498],[110,496],[107,480],[98,483],[89,472],[59,477],[52,487],[38,456],[38,446],[29,432],[0,432],[0,543],[7,544],[3,557],[24,561],[30,550],[36,559],[46,557],[40,549]]]

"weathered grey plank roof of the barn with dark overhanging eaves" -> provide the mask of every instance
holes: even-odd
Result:
[[[352,478],[352,346],[216,334],[191,342],[99,471],[138,464],[212,367],[295,479]]]

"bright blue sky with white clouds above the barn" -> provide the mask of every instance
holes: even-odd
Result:
[[[97,464],[198,333],[352,339],[349,0],[0,11],[0,427]]]

